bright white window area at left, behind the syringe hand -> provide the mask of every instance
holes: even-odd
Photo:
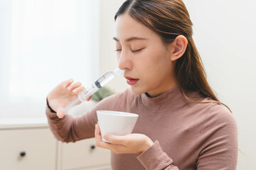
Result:
[[[95,80],[99,13],[100,0],[0,0],[0,120],[46,118],[54,86]]]

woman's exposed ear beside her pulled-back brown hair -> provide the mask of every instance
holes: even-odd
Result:
[[[183,35],[178,35],[174,42],[171,42],[171,61],[178,60],[186,51],[188,40]]]

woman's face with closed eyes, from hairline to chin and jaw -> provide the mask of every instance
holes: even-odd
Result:
[[[135,94],[159,96],[176,85],[171,45],[125,13],[117,17],[114,40],[119,68]]]

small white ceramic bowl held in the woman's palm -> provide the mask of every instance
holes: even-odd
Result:
[[[132,133],[139,115],[119,111],[97,111],[102,141],[106,133],[113,135],[128,135]]]

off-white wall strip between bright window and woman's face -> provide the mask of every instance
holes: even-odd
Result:
[[[124,0],[100,1],[100,74],[117,67],[114,37],[114,14]],[[106,85],[112,91],[124,91],[129,88],[124,77],[118,77]]]

